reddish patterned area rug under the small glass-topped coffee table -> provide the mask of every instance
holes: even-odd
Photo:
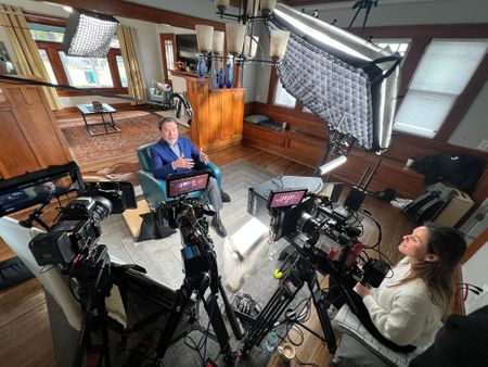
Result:
[[[61,130],[66,137],[78,164],[94,163],[130,154],[136,155],[138,147],[159,139],[158,118],[147,112],[138,112],[129,116],[124,115],[124,117],[117,117],[117,114],[114,114],[114,119],[115,125],[121,130],[120,134],[95,137],[90,137],[81,118],[60,122]],[[90,118],[90,122],[95,121]]]

